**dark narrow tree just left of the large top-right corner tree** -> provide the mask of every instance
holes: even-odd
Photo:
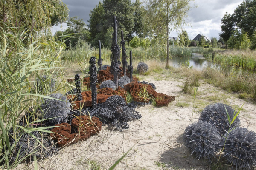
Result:
[[[231,37],[234,31],[234,22],[233,22],[233,15],[225,13],[224,17],[221,19],[221,33],[219,34],[220,37],[227,42],[227,40]]]

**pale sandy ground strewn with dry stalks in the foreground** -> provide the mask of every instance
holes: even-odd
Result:
[[[162,75],[163,76],[163,75]],[[153,82],[157,92],[172,95],[176,101],[168,107],[157,108],[152,105],[141,106],[137,111],[142,115],[140,121],[130,122],[130,129],[119,132],[111,125],[105,125],[97,136],[87,141],[73,144],[51,159],[38,162],[38,169],[44,170],[84,170],[88,169],[88,161],[96,162],[101,169],[108,169],[116,160],[131,150],[117,166],[122,170],[160,170],[160,169],[196,169],[209,170],[208,161],[197,160],[190,156],[182,145],[184,129],[191,123],[193,96],[181,93],[181,85],[185,78],[170,77],[168,80],[157,81],[142,77]],[[256,106],[250,102],[236,98],[201,82],[195,104],[198,108],[193,114],[197,121],[199,112],[209,103],[220,102],[241,107],[241,126],[256,131]],[[188,106],[180,106],[179,102]],[[32,169],[32,165],[20,165],[19,169]]]

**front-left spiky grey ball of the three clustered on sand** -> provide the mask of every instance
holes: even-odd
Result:
[[[184,132],[184,144],[197,159],[211,161],[219,151],[221,136],[215,126],[205,121],[189,125]]]

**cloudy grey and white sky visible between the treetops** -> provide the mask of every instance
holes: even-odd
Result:
[[[102,1],[102,0],[101,0]],[[131,0],[134,2],[135,0]],[[195,0],[197,8],[192,8],[186,18],[187,26],[185,29],[189,34],[190,39],[193,39],[197,34],[204,34],[208,37],[219,37],[221,32],[221,18],[225,12],[233,13],[234,9],[242,3],[243,0]],[[63,0],[67,4],[70,12],[70,17],[79,16],[87,23],[89,20],[90,10],[99,3],[99,0]],[[61,26],[54,26],[52,32],[64,30],[67,28],[65,23]],[[177,31],[170,33],[170,36],[177,37]]]

